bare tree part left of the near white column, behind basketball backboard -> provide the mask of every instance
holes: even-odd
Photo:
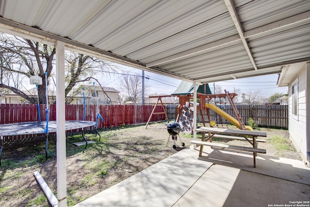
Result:
[[[36,103],[36,98],[23,92],[22,80],[34,75],[43,79],[43,85],[38,87],[40,103],[46,102],[45,73],[47,77],[53,68],[55,48],[0,33],[0,88],[6,88],[17,95]]]

